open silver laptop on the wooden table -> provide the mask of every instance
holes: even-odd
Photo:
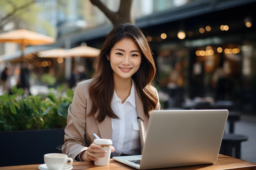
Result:
[[[142,155],[113,157],[140,170],[215,163],[229,111],[153,110]]]

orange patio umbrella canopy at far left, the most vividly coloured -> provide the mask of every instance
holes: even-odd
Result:
[[[0,34],[0,42],[14,42],[20,44],[20,49],[23,51],[25,46],[37,46],[43,44],[52,44],[55,38],[29,31],[27,29],[17,29]]]

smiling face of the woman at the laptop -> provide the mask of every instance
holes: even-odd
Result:
[[[110,51],[110,65],[114,79],[130,79],[141,64],[141,51],[131,38],[118,41]]]

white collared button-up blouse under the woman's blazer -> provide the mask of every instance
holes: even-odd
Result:
[[[114,91],[111,108],[119,117],[119,119],[112,118],[112,146],[114,146],[115,151],[111,153],[111,157],[120,156],[121,154],[139,155],[139,123],[133,82],[130,95],[123,104]]]

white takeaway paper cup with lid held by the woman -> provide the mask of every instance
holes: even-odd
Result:
[[[98,159],[98,161],[94,161],[94,165],[97,165],[97,166],[108,165],[110,160],[110,155],[111,155],[112,140],[111,139],[94,139],[93,143],[100,145],[102,147],[102,150],[107,151],[105,157],[95,157]]]

